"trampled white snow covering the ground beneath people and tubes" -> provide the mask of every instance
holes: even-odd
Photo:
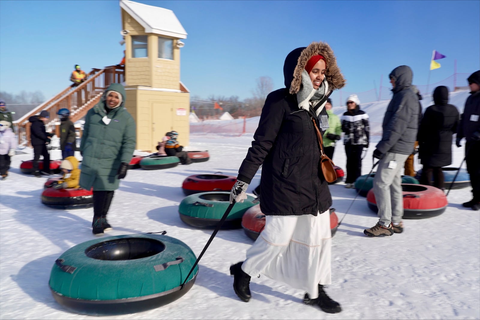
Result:
[[[456,103],[460,111],[467,96]],[[375,104],[368,108],[371,121],[381,123],[384,108]],[[378,139],[372,137],[362,174],[372,168]],[[181,184],[193,174],[236,176],[251,140],[252,133],[235,137],[194,133],[187,149],[208,150],[209,161],[166,170],[129,170],[108,215],[114,229],[104,237],[166,230],[198,256],[212,230],[180,220]],[[451,166],[458,167],[464,148],[453,145],[452,150]],[[91,232],[93,209],[43,205],[40,195],[46,178],[22,174],[20,164],[33,158],[32,150],[17,153],[8,179],[0,181],[0,319],[480,319],[480,214],[461,205],[471,199],[470,188],[451,190],[440,216],[405,220],[404,233],[369,238],[363,229],[376,223],[376,215],[365,198],[356,197],[356,190],[346,189],[343,182],[330,185],[339,219],[352,201],[353,205],[333,237],[333,283],[326,289],[342,305],[339,314],[302,304],[303,292],[264,276],[252,278],[250,302],[240,301],[229,266],[242,261],[252,245],[242,229],[220,230],[199,263],[192,289],[164,307],[113,317],[72,313],[54,300],[48,279],[64,251],[96,238]],[[50,154],[60,159],[59,150]],[[342,144],[334,162],[345,168]],[[420,169],[417,159],[415,167]],[[260,171],[248,192],[259,178]]]

